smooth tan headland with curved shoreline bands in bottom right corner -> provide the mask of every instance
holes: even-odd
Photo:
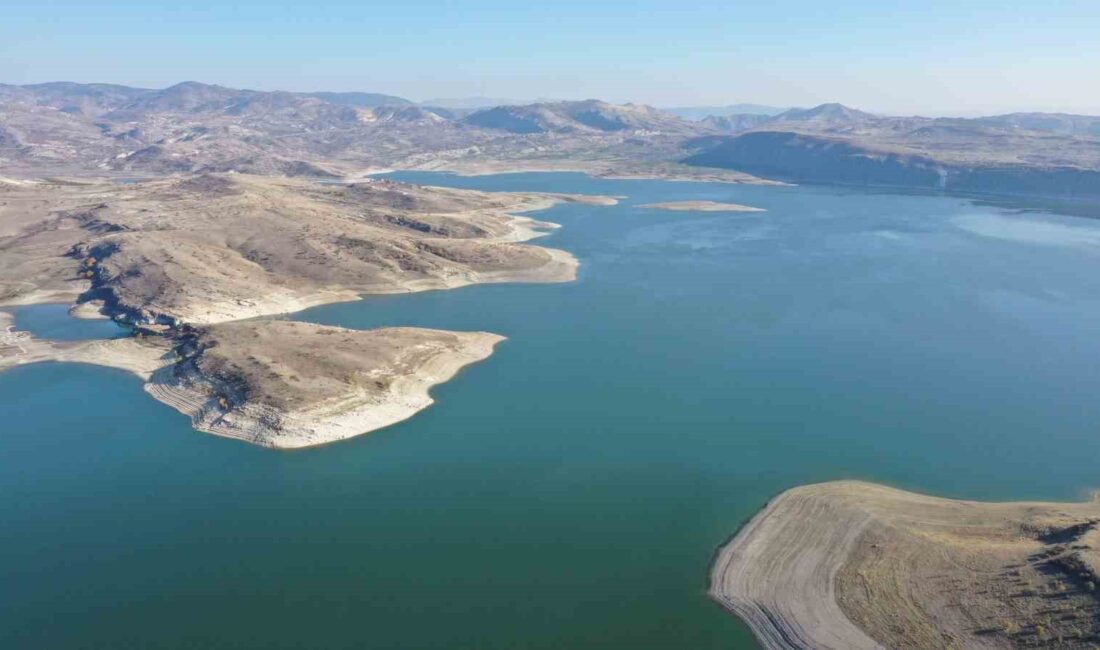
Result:
[[[765,648],[1092,648],[1100,503],[796,487],[722,547],[710,595]]]

